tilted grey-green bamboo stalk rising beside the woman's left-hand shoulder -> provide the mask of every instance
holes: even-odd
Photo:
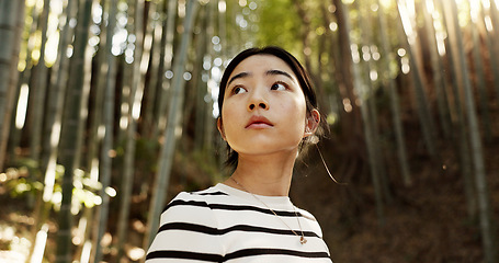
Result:
[[[186,11],[183,24],[183,34],[180,42],[179,53],[173,65],[173,79],[172,79],[172,96],[168,108],[168,125],[166,129],[165,142],[161,146],[159,158],[159,170],[152,190],[152,197],[148,215],[148,230],[145,237],[145,245],[149,248],[156,231],[158,230],[159,216],[165,205],[165,196],[168,191],[168,184],[173,164],[174,149],[175,149],[175,128],[179,126],[181,119],[181,108],[183,101],[183,88],[185,81],[182,78],[185,68],[185,60],[188,57],[188,48],[192,37],[192,27],[195,19],[195,11],[199,2],[196,0],[189,0],[186,2]]]

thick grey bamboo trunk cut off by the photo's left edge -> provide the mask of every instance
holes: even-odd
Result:
[[[24,8],[24,1],[0,0],[0,171],[5,161],[13,98],[16,94]]]

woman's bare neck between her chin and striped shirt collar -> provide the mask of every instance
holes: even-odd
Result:
[[[240,185],[230,179],[224,183],[257,195],[287,196],[295,159],[296,152],[284,156],[239,155],[238,165],[231,176]]]

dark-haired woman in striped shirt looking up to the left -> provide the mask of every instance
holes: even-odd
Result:
[[[234,172],[166,207],[147,262],[331,262],[320,226],[288,197],[321,123],[305,69],[282,48],[247,49],[224,72],[218,107]]]

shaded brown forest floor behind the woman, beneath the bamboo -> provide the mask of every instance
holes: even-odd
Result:
[[[484,142],[484,157],[492,217],[497,222],[499,110],[497,106],[491,110],[491,116],[495,117],[491,119],[491,130],[495,134],[491,141]],[[409,129],[407,138],[418,138],[418,135],[412,135]],[[467,215],[467,199],[456,151],[447,147],[445,141],[440,141],[440,161],[432,161],[421,153],[424,149],[419,138],[409,140],[408,144],[408,149],[411,149],[410,186],[406,186],[398,175],[395,150],[383,152],[385,174],[390,182],[387,191],[389,196],[384,198],[384,222],[376,211],[374,187],[363,159],[365,157],[343,157],[340,142],[334,139],[325,141],[320,149],[340,184],[329,179],[317,150],[310,149],[303,161],[307,164],[298,165],[291,198],[297,206],[316,216],[336,263],[484,262],[480,228],[477,218],[470,219]],[[342,164],[348,162],[352,170],[341,170]],[[192,169],[186,173],[196,171],[199,170]],[[31,244],[33,211],[29,208],[25,196],[11,197],[4,186],[4,181],[0,178],[0,263],[24,262]],[[173,183],[172,188],[173,192],[182,190],[180,182]],[[147,203],[141,201],[136,205],[147,206]],[[134,251],[133,248],[140,247],[146,224],[144,210],[133,208],[132,213],[128,254]],[[110,226],[113,225],[116,221],[112,217]],[[54,254],[56,231],[55,224],[50,224],[46,251],[50,254],[49,258]],[[495,236],[499,237],[499,233],[496,231]],[[105,252],[112,253],[111,250]]]

